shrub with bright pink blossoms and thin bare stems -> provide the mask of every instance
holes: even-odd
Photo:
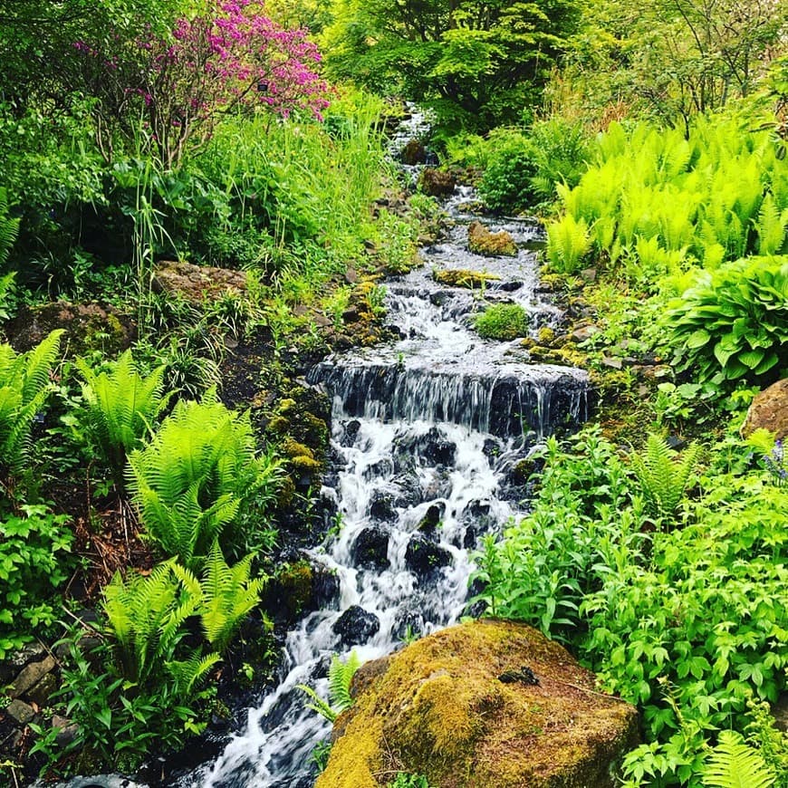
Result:
[[[262,10],[258,0],[220,0],[212,14],[178,19],[166,38],[148,28],[133,40],[74,43],[105,158],[114,133],[134,139],[140,120],[162,163],[175,168],[187,146],[205,142],[236,108],[320,119],[329,103],[316,72],[320,53],[305,31],[285,30]]]

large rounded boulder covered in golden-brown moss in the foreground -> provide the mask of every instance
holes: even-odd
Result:
[[[397,771],[436,788],[607,788],[611,764],[638,741],[633,706],[510,621],[418,640],[361,668],[353,689],[315,788],[377,788]]]

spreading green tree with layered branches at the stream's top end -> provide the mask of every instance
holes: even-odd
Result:
[[[520,119],[577,21],[572,0],[339,0],[330,72],[470,128]]]

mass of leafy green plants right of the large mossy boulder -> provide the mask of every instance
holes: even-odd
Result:
[[[625,758],[627,786],[697,786],[717,731],[745,731],[748,698],[785,687],[788,493],[725,471],[719,447],[683,528],[653,531],[609,442],[588,429],[570,451],[551,441],[531,513],[485,542],[482,599],[567,641],[640,707],[646,744]],[[776,769],[773,735],[758,741]]]

